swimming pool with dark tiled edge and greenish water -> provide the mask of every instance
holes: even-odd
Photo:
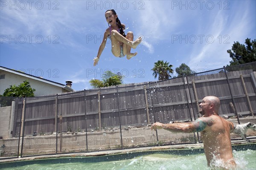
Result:
[[[256,169],[256,144],[233,145],[238,169]],[[100,163],[99,163],[100,162]],[[105,156],[76,156],[1,163],[4,170],[209,169],[203,148],[152,150]]]

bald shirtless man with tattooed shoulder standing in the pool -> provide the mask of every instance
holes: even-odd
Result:
[[[233,169],[236,166],[230,140],[230,132],[234,130],[233,123],[218,115],[220,108],[218,97],[206,96],[199,106],[199,113],[203,116],[195,121],[174,124],[156,122],[151,126],[151,130],[163,128],[173,133],[201,132],[208,166]]]

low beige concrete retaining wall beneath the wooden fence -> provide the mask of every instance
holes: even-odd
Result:
[[[236,119],[229,119],[235,125]],[[255,117],[240,119],[241,124],[246,122],[256,123]],[[176,144],[193,142],[193,133],[170,133],[167,130],[157,130],[159,144]],[[248,131],[249,136],[256,136],[256,132]],[[231,133],[231,138],[237,138]],[[110,150],[121,148],[120,130],[106,130],[87,133],[88,151]],[[62,142],[61,142],[62,140]],[[62,145],[61,145],[62,143]],[[150,127],[131,127],[122,129],[123,147],[153,146],[157,144],[156,132]],[[20,141],[21,144],[21,141]],[[17,156],[18,138],[4,138],[0,140],[2,156]],[[21,148],[21,147],[20,147]],[[86,133],[74,132],[58,135],[58,153],[84,152],[86,151]],[[56,135],[26,136],[23,141],[23,156],[49,154],[56,152]]]

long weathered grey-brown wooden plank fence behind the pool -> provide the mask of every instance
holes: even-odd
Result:
[[[255,63],[252,65],[255,67]],[[221,68],[160,82],[18,98],[12,135],[197,119],[198,104],[209,95],[221,100],[220,115],[255,114],[255,72],[227,70]]]

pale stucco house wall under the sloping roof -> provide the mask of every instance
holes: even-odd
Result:
[[[6,88],[9,88],[10,85],[20,85],[23,81],[27,80],[29,81],[29,84],[31,85],[31,88],[35,89],[35,96],[44,96],[49,94],[60,94],[63,92],[67,92],[67,90],[63,89],[62,87],[58,87],[56,85],[51,85],[46,82],[41,82],[36,79],[33,79],[33,77],[24,77],[22,75],[13,74],[10,72],[6,72],[1,70],[0,74],[5,74],[4,79],[0,79],[0,94],[3,95]]]

